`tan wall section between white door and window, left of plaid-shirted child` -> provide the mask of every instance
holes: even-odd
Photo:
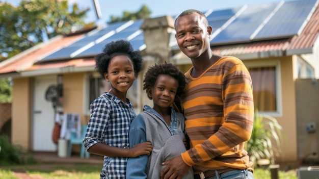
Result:
[[[81,123],[87,123],[84,103],[84,75],[85,73],[66,73],[63,75],[63,112],[78,113]]]

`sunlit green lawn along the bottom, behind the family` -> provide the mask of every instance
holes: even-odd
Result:
[[[100,164],[37,164],[37,165],[14,165],[0,166],[0,178],[18,179],[12,171],[26,171],[29,175],[41,176],[45,179],[96,179],[100,175]],[[295,170],[279,171],[280,179],[297,179]],[[271,179],[269,169],[256,168],[255,179]]]

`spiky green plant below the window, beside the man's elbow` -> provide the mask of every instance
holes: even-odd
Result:
[[[277,119],[268,115],[259,115],[258,110],[255,110],[252,135],[246,142],[246,150],[254,166],[256,167],[259,159],[268,159],[274,164],[274,154],[279,153],[276,150],[280,150],[281,141],[282,126]]]

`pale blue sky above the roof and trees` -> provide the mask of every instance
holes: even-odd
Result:
[[[54,1],[54,0],[52,0]],[[206,10],[221,10],[227,8],[236,8],[243,5],[263,4],[270,2],[280,2],[281,0],[96,0],[100,5],[101,17],[97,18],[94,9],[94,0],[68,0],[69,4],[76,3],[80,9],[90,8],[87,13],[86,22],[95,21],[97,25],[105,24],[110,21],[110,16],[122,16],[124,11],[137,12],[145,4],[152,12],[151,17],[159,17],[165,15],[178,15],[187,9],[197,9],[200,11]],[[291,0],[285,0],[291,1]],[[302,1],[302,0],[299,0]],[[0,2],[8,2],[13,6],[17,6],[20,0],[0,0]]]

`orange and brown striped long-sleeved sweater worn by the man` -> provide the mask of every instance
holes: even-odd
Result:
[[[253,127],[250,74],[240,59],[222,57],[198,78],[190,69],[181,97],[191,149],[181,154],[194,173],[229,168],[250,169],[244,142]]]

